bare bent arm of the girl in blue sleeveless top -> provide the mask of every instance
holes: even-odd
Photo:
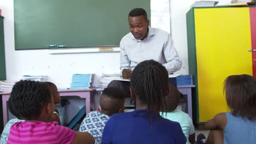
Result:
[[[222,129],[226,126],[226,114],[218,113],[213,119],[210,119],[205,123],[205,128],[208,130]]]

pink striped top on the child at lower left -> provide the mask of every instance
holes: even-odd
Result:
[[[72,143],[75,131],[57,122],[17,122],[11,125],[7,143]]]

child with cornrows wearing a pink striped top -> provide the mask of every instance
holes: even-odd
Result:
[[[54,113],[54,100],[44,82],[19,81],[9,98],[9,109],[25,122],[10,127],[7,143],[94,143],[89,133],[76,132],[57,122],[50,122]]]

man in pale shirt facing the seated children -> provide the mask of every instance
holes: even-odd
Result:
[[[167,69],[169,74],[182,67],[170,34],[158,28],[149,27],[147,13],[142,8],[130,11],[130,33],[120,42],[120,70],[124,79],[130,79],[132,70],[142,61],[154,59]],[[176,79],[170,81],[176,86]],[[111,81],[108,87],[120,87],[130,97],[129,82]]]

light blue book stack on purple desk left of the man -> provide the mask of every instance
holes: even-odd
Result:
[[[86,89],[92,87],[94,74],[73,74],[70,89]]]

